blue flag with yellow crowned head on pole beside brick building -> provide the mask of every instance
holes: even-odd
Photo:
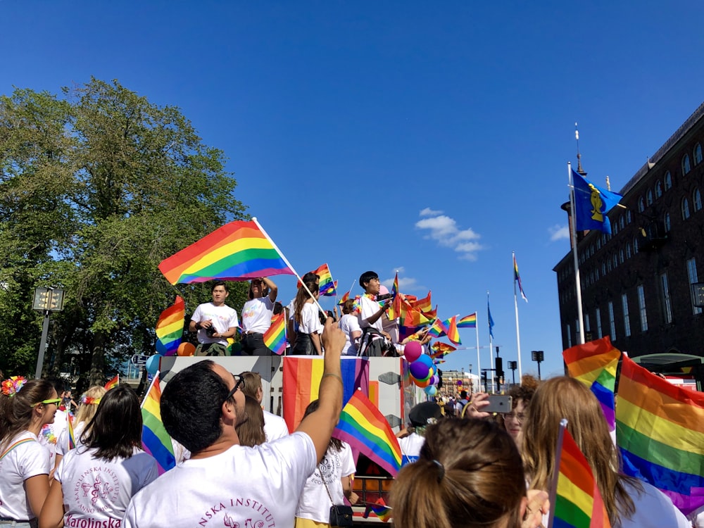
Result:
[[[574,219],[577,231],[600,230],[611,234],[611,222],[606,215],[622,199],[618,193],[596,187],[572,169],[574,181]]]

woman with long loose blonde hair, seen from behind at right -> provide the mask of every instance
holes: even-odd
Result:
[[[547,490],[555,468],[560,420],[594,474],[612,527],[689,528],[670,498],[621,472],[621,459],[596,396],[577,379],[554,377],[536,390],[523,425],[523,460],[530,487]]]

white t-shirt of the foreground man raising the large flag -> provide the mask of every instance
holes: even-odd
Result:
[[[184,460],[132,497],[122,528],[293,528],[317,458],[310,436],[297,432]]]

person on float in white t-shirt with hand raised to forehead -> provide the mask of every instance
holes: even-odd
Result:
[[[264,332],[271,326],[278,288],[272,279],[261,277],[249,284],[249,301],[242,307],[242,351],[247,356],[270,356]]]

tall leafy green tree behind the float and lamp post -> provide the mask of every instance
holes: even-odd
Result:
[[[49,359],[70,354],[89,384],[106,360],[153,350],[153,327],[176,294],[192,310],[207,285],[172,287],[158,263],[227,221],[244,218],[222,151],[180,110],[117,81],[61,96],[17,89],[0,98],[0,367],[32,372],[41,317],[34,287],[66,291],[51,315]],[[230,301],[244,300],[237,284]],[[6,353],[5,353],[6,352]]]

